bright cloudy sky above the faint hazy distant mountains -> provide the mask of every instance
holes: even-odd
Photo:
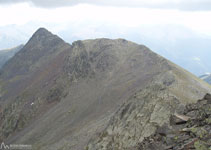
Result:
[[[0,0],[0,26],[29,22],[56,23],[57,28],[70,23],[174,24],[211,35],[210,10],[210,0]]]

